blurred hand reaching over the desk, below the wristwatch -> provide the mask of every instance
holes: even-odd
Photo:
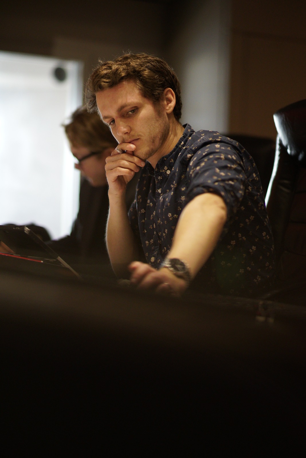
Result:
[[[153,289],[157,293],[180,296],[187,288],[187,283],[178,278],[166,267],[159,270],[143,262],[131,262],[131,284],[141,289]]]

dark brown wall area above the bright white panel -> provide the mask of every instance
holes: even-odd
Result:
[[[169,1],[32,0],[1,5],[0,50],[82,60],[86,80],[98,59],[122,52],[159,54]]]

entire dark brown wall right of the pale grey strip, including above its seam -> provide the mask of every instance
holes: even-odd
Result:
[[[232,0],[230,132],[275,140],[273,113],[306,98],[305,0]]]

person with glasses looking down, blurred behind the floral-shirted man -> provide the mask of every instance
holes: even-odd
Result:
[[[63,127],[76,158],[75,168],[81,172],[80,205],[71,234],[48,245],[74,266],[109,264],[105,245],[109,213],[105,159],[118,143],[99,115],[88,113],[86,107],[76,109]],[[126,195],[127,210],[135,197],[136,180]]]

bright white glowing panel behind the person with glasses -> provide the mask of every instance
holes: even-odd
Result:
[[[82,103],[81,71],[75,61],[0,52],[0,224],[70,232],[79,173],[61,124]]]

